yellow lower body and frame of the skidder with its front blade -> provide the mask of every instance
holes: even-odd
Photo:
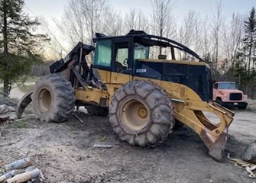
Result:
[[[170,62],[176,63],[177,61],[170,60]],[[206,65],[205,63],[188,61],[181,62],[181,64],[185,63],[190,63],[193,65]],[[227,129],[232,123],[234,116],[232,111],[222,108],[219,104],[202,101],[199,95],[197,95],[197,93],[191,88],[179,83],[135,77],[132,75],[109,72],[100,69],[99,74],[102,82],[107,86],[108,91],[101,91],[99,89],[93,89],[92,91],[78,90],[76,91],[76,95],[79,100],[89,100],[100,104],[100,98],[107,98],[106,105],[109,106],[112,95],[114,95],[118,88],[120,88],[123,84],[134,79],[150,80],[151,82],[160,85],[160,87],[167,92],[167,95],[170,96],[174,106],[175,119],[193,129],[201,137],[208,147],[210,155],[215,157],[215,159],[222,159],[221,152],[223,146],[225,146]],[[212,123],[210,120],[208,120],[205,114],[203,114],[203,112],[215,114],[217,117],[219,117],[219,122]]]

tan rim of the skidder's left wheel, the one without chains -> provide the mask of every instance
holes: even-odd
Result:
[[[41,111],[48,111],[51,105],[51,95],[50,91],[47,88],[41,89],[38,93],[37,104]]]

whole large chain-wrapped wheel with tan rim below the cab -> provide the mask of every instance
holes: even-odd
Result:
[[[109,107],[113,130],[134,146],[157,146],[173,128],[173,107],[158,85],[131,81],[115,92]]]

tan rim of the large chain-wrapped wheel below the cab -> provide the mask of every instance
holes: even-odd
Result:
[[[146,105],[138,100],[132,99],[122,105],[122,123],[128,130],[141,132],[147,127],[149,112]]]

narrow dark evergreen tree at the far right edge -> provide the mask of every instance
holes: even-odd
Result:
[[[256,53],[256,12],[255,8],[251,8],[248,20],[245,21],[245,39],[243,40],[245,44],[245,53],[247,57],[247,71],[250,74],[251,62],[252,71],[254,71],[254,60]]]

